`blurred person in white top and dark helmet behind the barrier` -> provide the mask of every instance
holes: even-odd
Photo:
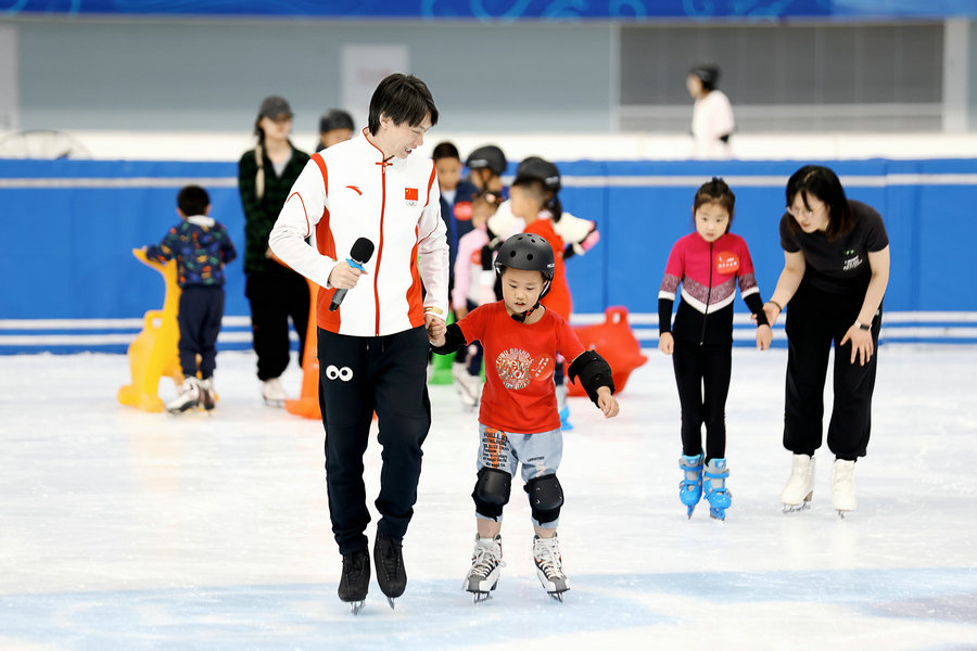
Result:
[[[696,158],[728,158],[729,138],[736,129],[733,105],[726,93],[716,88],[720,69],[714,65],[694,67],[685,80],[693,107],[691,133]]]

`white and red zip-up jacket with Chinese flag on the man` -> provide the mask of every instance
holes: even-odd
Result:
[[[384,161],[363,133],[312,156],[268,244],[283,263],[319,285],[319,328],[382,336],[422,326],[426,310],[447,317],[448,246],[440,196],[430,158],[414,154]],[[313,233],[315,247],[305,241]],[[340,308],[329,311],[335,293],[329,275],[359,238],[375,246],[364,265],[367,272]]]

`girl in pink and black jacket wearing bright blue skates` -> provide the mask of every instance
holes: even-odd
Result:
[[[713,178],[699,188],[693,204],[696,232],[675,242],[658,294],[658,347],[672,356],[682,405],[678,465],[684,478],[678,495],[689,518],[703,488],[713,518],[724,520],[732,503],[725,482],[729,476],[725,408],[737,280],[743,299],[757,317],[757,347],[767,348],[773,337],[746,241],[729,232],[735,203],[736,196],[722,179]],[[673,327],[672,305],[680,284],[682,301]]]

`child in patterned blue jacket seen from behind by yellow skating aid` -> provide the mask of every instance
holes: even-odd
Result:
[[[201,406],[215,406],[214,369],[217,334],[224,317],[224,265],[237,257],[227,228],[207,215],[211,197],[200,186],[187,186],[177,194],[177,214],[182,221],[169,229],[158,245],[145,246],[152,260],[176,260],[180,305],[180,395],[166,408],[182,413]],[[196,356],[200,356],[198,369]],[[198,376],[199,372],[199,376]]]

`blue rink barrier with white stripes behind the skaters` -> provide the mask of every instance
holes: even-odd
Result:
[[[972,221],[977,161],[823,162],[852,199],[883,215],[892,268],[885,299],[888,342],[977,343],[977,244],[954,235]],[[722,176],[736,193],[733,232],[743,235],[769,297],[783,268],[777,222],[797,162],[559,163],[564,209],[594,219],[600,242],[567,263],[574,319],[629,309],[645,347],[657,345],[658,286],[672,244],[690,232],[695,190]],[[510,170],[515,171],[515,167]],[[236,163],[0,161],[0,354],[124,352],[143,312],[163,304],[163,283],[131,255],[176,224],[176,193],[207,189],[212,215],[243,254]],[[218,346],[251,346],[242,257],[227,268],[226,328]],[[751,326],[736,302],[735,337]],[[778,335],[781,339],[783,333]],[[776,340],[775,340],[776,341]]]

